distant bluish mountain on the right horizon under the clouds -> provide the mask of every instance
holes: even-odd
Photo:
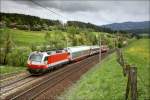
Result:
[[[103,25],[103,27],[112,30],[124,30],[132,33],[149,33],[150,21],[143,22],[124,22]]]

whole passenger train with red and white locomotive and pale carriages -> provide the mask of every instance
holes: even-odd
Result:
[[[41,75],[57,66],[72,63],[88,56],[108,51],[107,46],[74,46],[61,50],[31,52],[27,60],[27,70],[32,75]]]

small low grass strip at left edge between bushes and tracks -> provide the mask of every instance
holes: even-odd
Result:
[[[8,74],[26,70],[26,67],[0,66],[0,74]]]

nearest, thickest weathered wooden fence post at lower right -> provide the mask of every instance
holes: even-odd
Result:
[[[130,67],[131,100],[137,100],[137,68]]]

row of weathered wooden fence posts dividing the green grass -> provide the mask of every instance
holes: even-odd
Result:
[[[129,64],[125,64],[121,49],[117,48],[116,54],[117,62],[122,66],[124,76],[128,75],[125,100],[128,99],[129,93],[131,100],[137,100],[137,68]]]

